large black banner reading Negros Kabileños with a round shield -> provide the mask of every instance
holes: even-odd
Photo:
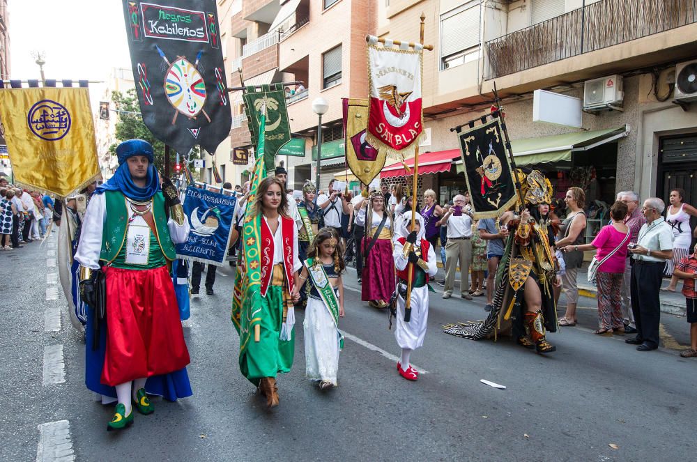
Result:
[[[232,124],[215,0],[123,0],[143,121],[186,155],[209,153]]]

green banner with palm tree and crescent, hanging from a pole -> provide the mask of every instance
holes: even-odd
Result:
[[[291,140],[291,128],[288,123],[288,110],[286,108],[286,95],[283,84],[261,85],[259,87],[247,86],[243,96],[245,100],[245,112],[247,113],[247,124],[252,134],[252,144],[254,152],[262,153],[264,164],[267,171],[275,168],[275,158],[279,149]],[[266,128],[263,130],[263,151],[259,149],[259,132],[261,118],[259,113],[261,107],[266,104]],[[257,154],[261,157],[261,155]]]

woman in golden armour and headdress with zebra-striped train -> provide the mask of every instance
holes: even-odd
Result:
[[[546,332],[556,332],[553,286],[561,284],[549,219],[552,186],[537,170],[516,170],[525,201],[520,217],[508,222],[509,238],[496,274],[493,308],[485,321],[445,325],[445,333],[480,340],[508,334],[537,353],[556,351]]]

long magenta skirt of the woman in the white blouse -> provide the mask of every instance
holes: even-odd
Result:
[[[363,239],[363,247],[369,245],[372,239]],[[363,263],[363,273],[360,284],[361,300],[390,301],[395,292],[395,260],[392,257],[392,241],[378,239],[370,249]]]

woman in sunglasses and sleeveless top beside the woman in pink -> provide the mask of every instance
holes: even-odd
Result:
[[[585,192],[580,187],[569,187],[564,201],[567,205],[569,214],[560,226],[560,239],[557,240],[557,247],[567,245],[583,244],[585,237]],[[562,289],[567,298],[566,313],[559,318],[559,325],[576,325],[576,302],[579,301],[579,286],[576,285],[576,275],[579,268],[583,265],[583,252],[581,250],[571,250],[564,254],[566,271],[562,276]]]

